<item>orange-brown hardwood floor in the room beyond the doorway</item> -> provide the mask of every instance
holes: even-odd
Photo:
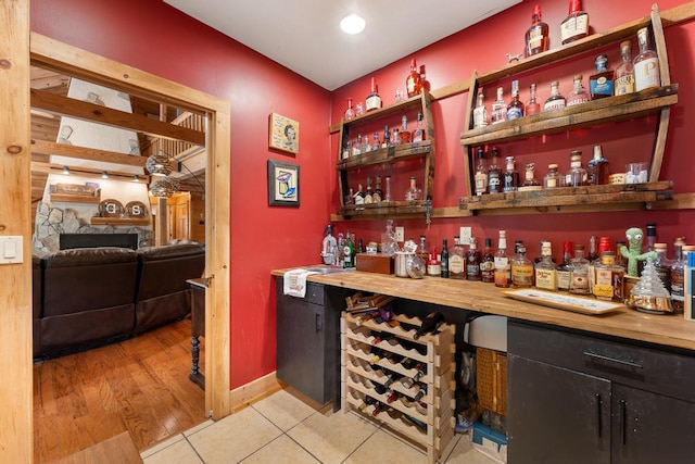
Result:
[[[186,318],[35,363],[35,462],[54,462],[125,430],[142,451],[205,421],[204,391],[188,379],[190,327]]]

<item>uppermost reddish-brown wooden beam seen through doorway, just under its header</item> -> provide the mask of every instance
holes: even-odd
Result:
[[[122,129],[130,129],[155,137],[184,140],[200,146],[205,145],[205,133],[163,123],[139,114],[126,113],[125,111],[50,93],[46,90],[31,89],[31,106],[49,113],[67,115]]]

